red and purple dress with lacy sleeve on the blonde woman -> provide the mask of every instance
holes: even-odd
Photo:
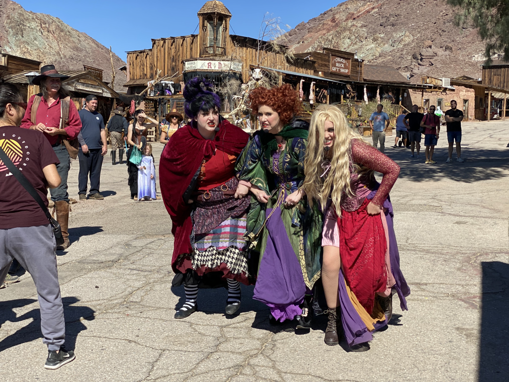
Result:
[[[400,167],[377,149],[352,140],[350,187],[341,199],[341,218],[331,206],[325,213],[322,245],[340,248],[341,271],[338,293],[345,337],[350,346],[371,341],[372,332],[387,324],[375,296],[389,296],[394,289],[402,310],[410,289],[400,269],[400,255],[394,234],[389,192],[398,179]],[[357,166],[355,166],[357,165]],[[383,174],[378,183],[373,175],[358,173],[361,166]],[[366,206],[380,206],[379,215],[370,215]]]

